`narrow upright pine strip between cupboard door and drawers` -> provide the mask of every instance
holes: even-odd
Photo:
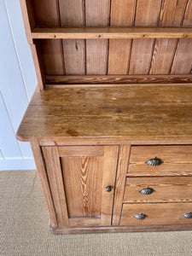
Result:
[[[119,147],[119,159],[118,170],[115,182],[115,194],[113,202],[113,218],[112,224],[119,225],[120,215],[122,210],[122,201],[125,191],[126,172],[128,169],[129,155],[131,145],[120,145]]]

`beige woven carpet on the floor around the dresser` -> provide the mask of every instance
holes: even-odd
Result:
[[[1,255],[192,255],[190,231],[52,235],[36,171],[0,178]]]

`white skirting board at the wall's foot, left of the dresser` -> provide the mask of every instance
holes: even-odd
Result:
[[[0,171],[34,170],[36,169],[33,158],[0,159]]]

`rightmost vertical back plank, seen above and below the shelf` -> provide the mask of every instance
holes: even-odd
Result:
[[[192,0],[189,0],[183,26],[192,26]],[[172,74],[189,74],[192,68],[192,39],[181,38],[177,44],[176,54],[172,63]]]

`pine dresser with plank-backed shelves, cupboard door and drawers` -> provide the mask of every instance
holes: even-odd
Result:
[[[38,87],[17,138],[50,229],[192,230],[192,1],[20,5]]]

